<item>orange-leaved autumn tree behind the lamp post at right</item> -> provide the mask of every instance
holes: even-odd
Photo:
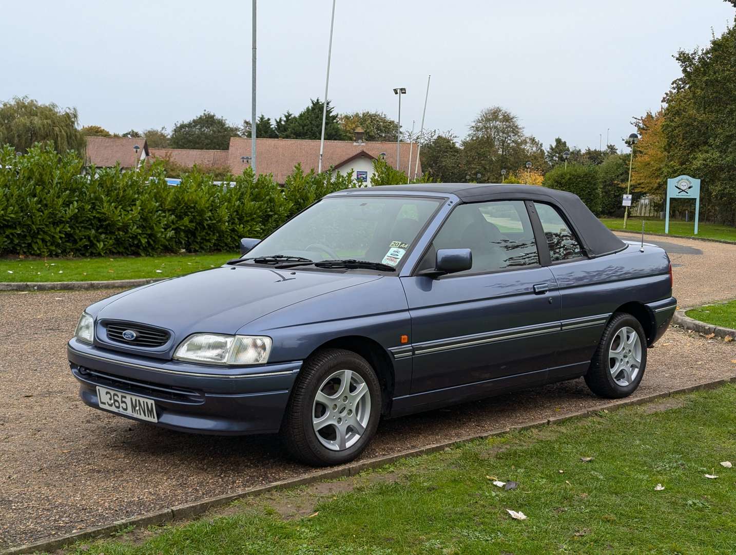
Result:
[[[665,134],[662,122],[665,120],[665,109],[659,108],[654,114],[647,111],[640,118],[634,118],[640,139],[634,152],[634,163],[631,167],[631,186],[634,190],[664,196],[666,191]]]

